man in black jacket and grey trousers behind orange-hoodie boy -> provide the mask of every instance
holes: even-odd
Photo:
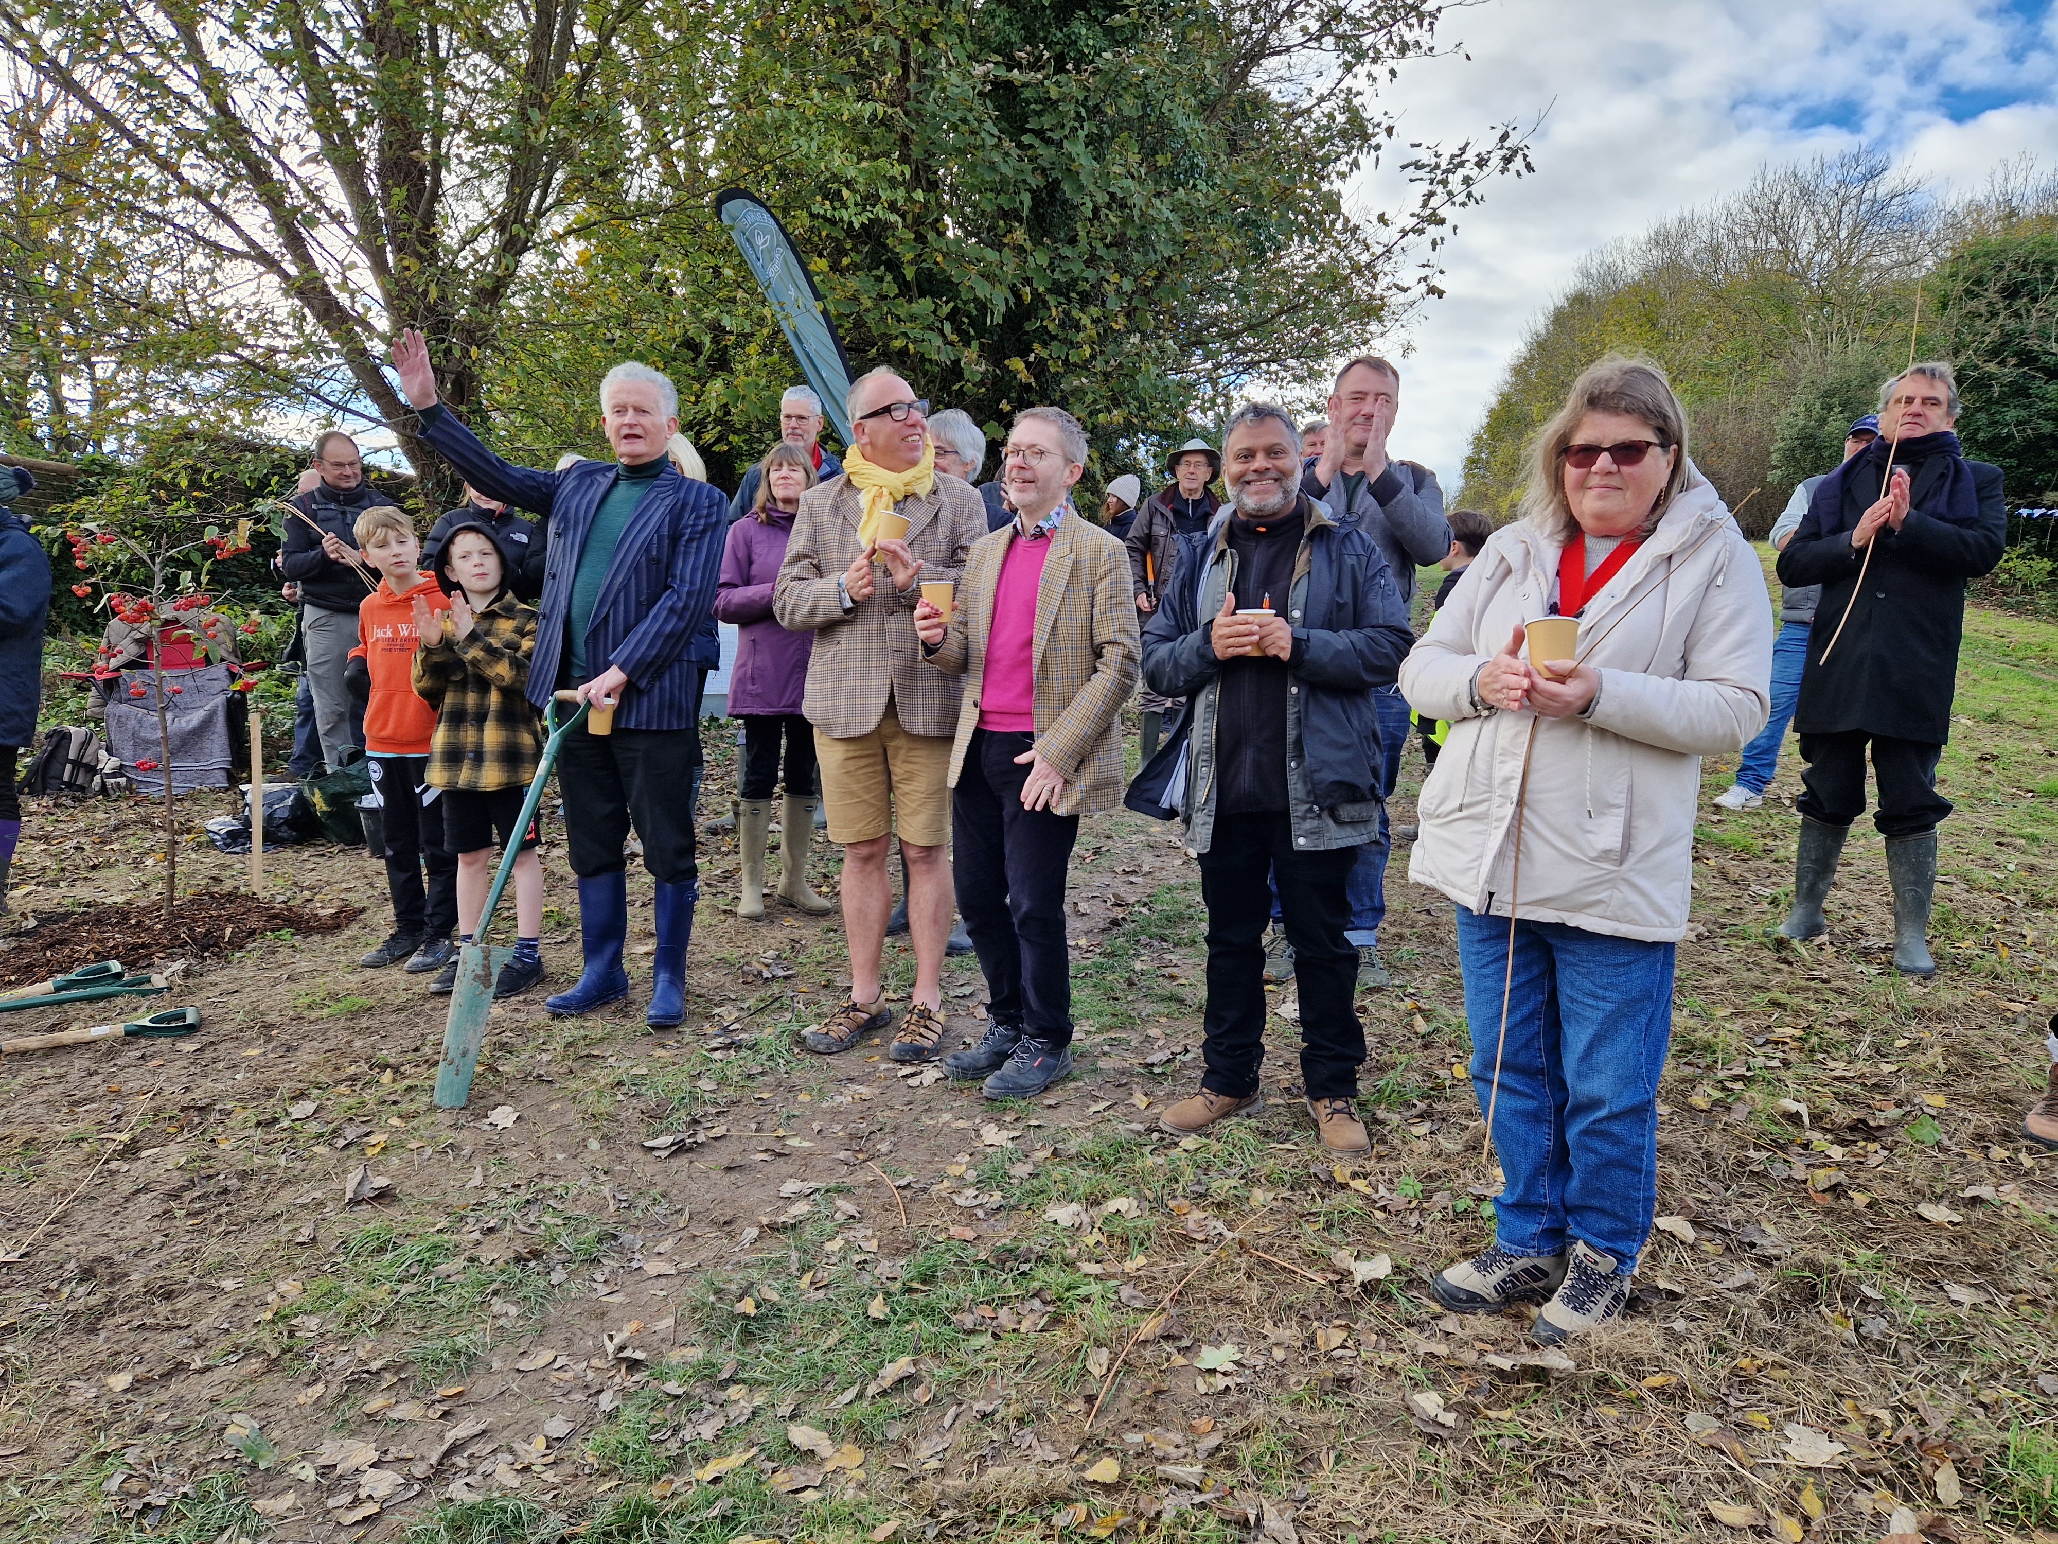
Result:
[[[370,585],[350,562],[358,556],[358,515],[393,500],[364,482],[358,443],[340,428],[315,441],[313,467],[321,482],[286,500],[307,519],[286,521],[278,568],[300,587],[300,642],[307,688],[315,696],[315,733],[321,735],[321,760],[338,768],[344,749],[354,743],[344,667],[358,646],[358,603],[370,595]]]

